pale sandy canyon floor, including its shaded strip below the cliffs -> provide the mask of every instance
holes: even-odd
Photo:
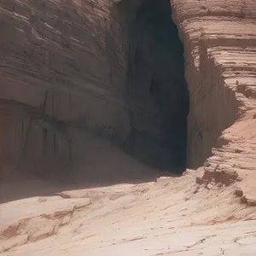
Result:
[[[49,182],[4,167],[2,255],[255,255],[252,172],[243,178],[206,164],[168,177],[73,134],[88,159],[70,177]]]

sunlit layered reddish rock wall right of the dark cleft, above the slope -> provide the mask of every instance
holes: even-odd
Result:
[[[190,96],[188,162],[198,167],[212,155],[213,146],[220,146],[216,141],[221,132],[248,108],[253,109],[253,103],[244,107],[241,91],[242,86],[255,83],[256,3],[171,3],[173,20],[184,44]]]

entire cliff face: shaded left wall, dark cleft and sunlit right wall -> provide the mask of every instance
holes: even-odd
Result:
[[[164,0],[2,1],[4,159],[63,170],[75,125],[150,165],[201,166],[254,114],[255,3],[171,6],[173,19]]]

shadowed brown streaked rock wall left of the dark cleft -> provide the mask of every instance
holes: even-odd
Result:
[[[56,156],[49,148],[70,159],[67,134],[56,139],[63,123],[124,139],[125,57],[111,9],[108,1],[1,1],[5,159],[43,164],[43,151]],[[34,119],[45,125],[33,128]]]

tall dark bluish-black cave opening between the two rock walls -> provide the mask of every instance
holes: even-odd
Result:
[[[127,39],[131,131],[125,150],[149,166],[181,173],[186,168],[189,113],[183,44],[169,1],[142,0],[138,6],[131,2],[121,2],[123,14],[128,12],[131,20]]]

